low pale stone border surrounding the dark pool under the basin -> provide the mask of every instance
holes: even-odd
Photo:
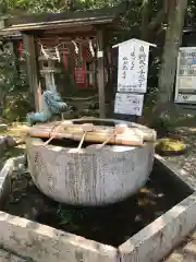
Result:
[[[156,162],[168,170],[161,159],[156,158]],[[0,174],[1,196],[9,193],[8,176],[23,163],[23,156],[7,162]],[[180,179],[176,172],[172,176]],[[37,262],[158,262],[195,228],[195,214],[196,192],[193,192],[126,242],[113,248],[0,212],[0,246]]]

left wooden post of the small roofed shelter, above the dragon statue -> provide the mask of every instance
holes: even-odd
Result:
[[[35,38],[33,35],[24,35],[23,43],[26,49],[26,66],[27,66],[27,78],[28,84],[35,96],[36,111],[40,110],[40,83],[38,81],[38,69],[37,69],[37,57]]]

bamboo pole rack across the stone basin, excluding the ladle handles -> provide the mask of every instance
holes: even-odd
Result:
[[[69,139],[81,141],[84,134],[83,124],[61,121],[53,123],[36,124],[27,130],[27,134],[34,138],[57,140]],[[156,131],[143,126],[127,126],[126,131],[115,133],[115,127],[94,126],[91,132],[87,132],[86,142],[103,143],[109,140],[110,144],[140,146],[145,142],[156,142]]]

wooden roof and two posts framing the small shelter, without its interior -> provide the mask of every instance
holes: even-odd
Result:
[[[103,43],[105,34],[107,37],[109,32],[118,27],[120,22],[120,16],[125,11],[124,3],[109,9],[99,9],[94,11],[85,11],[85,12],[66,12],[66,13],[58,13],[58,14],[38,14],[38,15],[28,15],[23,17],[12,17],[10,20],[11,26],[3,28],[1,32],[4,31],[20,31],[24,35],[24,44],[26,47],[27,53],[27,74],[28,74],[28,83],[30,90],[35,94],[35,103],[36,103],[36,110],[40,109],[40,93],[41,93],[41,71],[39,71],[38,67],[38,53],[36,53],[36,48],[40,45],[39,39],[44,39],[45,37],[50,39],[60,39],[60,38],[69,38],[74,40],[78,37],[81,39],[91,39],[94,38],[96,45],[95,50],[95,73],[93,72],[95,80],[94,85],[95,88],[84,88],[84,93],[87,93],[87,96],[96,95],[98,92],[99,97],[99,114],[101,118],[106,117],[106,67],[105,67],[105,49],[107,48],[106,45],[109,45],[109,40],[107,44]],[[1,34],[0,32],[0,34]],[[106,37],[106,38],[107,38]],[[35,40],[37,43],[35,43]],[[78,44],[79,45],[79,44]],[[59,44],[57,44],[59,46]],[[74,48],[74,47],[73,47]],[[98,58],[97,51],[102,52],[103,56]],[[81,52],[82,53],[82,52]],[[62,53],[61,53],[62,55]],[[74,57],[74,56],[73,56]],[[75,58],[73,58],[75,61]],[[72,59],[72,60],[73,60]],[[70,68],[72,69],[71,73],[71,82],[75,78],[75,70],[73,70],[74,62],[71,61]],[[76,67],[75,67],[76,68]],[[40,68],[41,70],[41,68]],[[84,70],[84,69],[83,69]],[[88,69],[87,69],[88,71]],[[74,73],[73,73],[74,72]],[[85,71],[86,74],[88,72]],[[73,75],[72,75],[73,74]],[[60,78],[59,78],[60,79]],[[66,81],[65,81],[66,83]],[[68,83],[66,83],[68,84]],[[60,83],[61,87],[57,90],[63,88],[63,96],[64,92],[69,88],[66,85]],[[84,83],[85,85],[85,83]],[[71,86],[72,87],[72,86]],[[98,91],[97,88],[98,87]],[[81,87],[79,93],[83,92],[83,87]],[[86,93],[84,96],[86,96]],[[69,96],[66,94],[65,96]]]

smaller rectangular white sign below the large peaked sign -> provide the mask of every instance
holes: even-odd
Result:
[[[144,95],[142,94],[115,94],[114,112],[123,115],[142,116]]]

